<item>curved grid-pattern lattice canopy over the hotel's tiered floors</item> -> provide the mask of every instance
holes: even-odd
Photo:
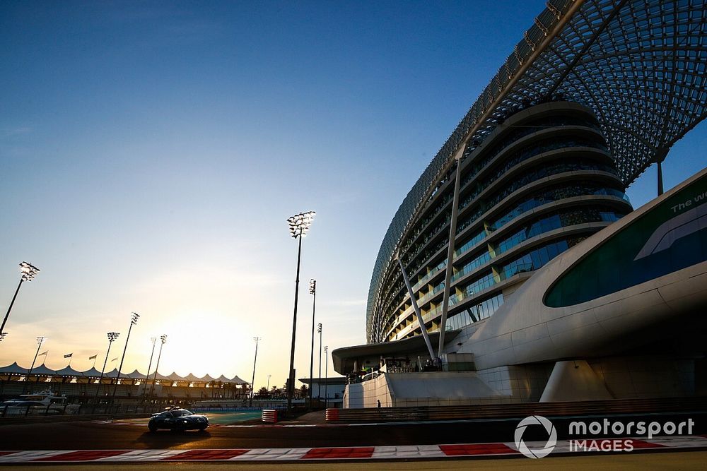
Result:
[[[380,290],[425,203],[509,114],[563,100],[592,109],[627,186],[706,117],[705,0],[549,0],[395,213],[368,292],[368,342]]]

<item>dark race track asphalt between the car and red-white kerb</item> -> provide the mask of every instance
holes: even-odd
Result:
[[[621,417],[622,420],[696,419],[694,434],[706,434],[707,417],[672,414]],[[569,420],[551,417],[563,438]],[[591,419],[591,417],[586,417]],[[401,446],[513,441],[520,418],[392,424],[295,424],[228,426],[216,424],[206,431],[158,431],[151,433],[143,423],[59,422],[0,425],[0,451],[25,450],[144,450],[204,448],[295,448]],[[542,430],[538,430],[541,432]],[[547,439],[539,434],[528,439]]]

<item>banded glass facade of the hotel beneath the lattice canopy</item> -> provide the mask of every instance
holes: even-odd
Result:
[[[531,113],[506,124],[462,160],[446,329],[488,318],[506,287],[525,280],[516,275],[631,211],[588,110],[559,106],[555,115]],[[400,249],[428,331],[439,330],[443,311],[454,175],[452,168]],[[400,275],[392,273],[382,292],[374,340],[419,335]]]

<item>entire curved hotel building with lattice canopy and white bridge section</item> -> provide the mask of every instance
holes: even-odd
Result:
[[[345,407],[707,393],[707,170],[662,187],[706,68],[703,2],[549,0],[393,217]]]

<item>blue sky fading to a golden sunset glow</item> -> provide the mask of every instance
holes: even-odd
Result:
[[[23,283],[0,366],[287,376],[303,240],[296,376],[312,296],[330,350],[366,342],[375,256],[407,191],[544,0],[4,1],[0,307]],[[508,14],[512,12],[512,14]],[[705,165],[704,124],[665,186]],[[655,197],[655,168],[629,189]],[[119,332],[108,346],[106,333]],[[315,341],[318,371],[319,339]],[[117,358],[116,362],[112,359]],[[153,360],[153,369],[156,362]],[[329,376],[334,375],[329,361]],[[322,365],[322,376],[326,367]],[[298,383],[299,385],[299,383]]]

